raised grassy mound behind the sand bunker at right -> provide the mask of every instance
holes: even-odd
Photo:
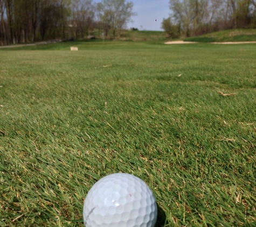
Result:
[[[256,41],[256,29],[223,30],[204,34],[203,36],[189,37],[184,41],[195,42],[238,42]]]

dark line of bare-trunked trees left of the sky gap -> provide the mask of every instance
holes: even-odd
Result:
[[[0,0],[0,45],[84,38],[94,29],[120,36],[133,15],[126,0]]]

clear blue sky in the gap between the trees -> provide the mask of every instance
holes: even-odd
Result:
[[[133,2],[133,11],[137,16],[133,16],[133,23],[127,25],[136,27],[139,30],[162,31],[161,23],[163,18],[169,17],[169,0],[127,0]],[[94,2],[101,2],[94,0]],[[156,19],[156,21],[155,21]]]

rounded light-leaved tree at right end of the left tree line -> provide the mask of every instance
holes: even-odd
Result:
[[[126,0],[103,0],[97,4],[97,10],[103,30],[105,30],[105,36],[107,36],[108,31],[111,29],[114,38],[116,32],[120,36],[123,27],[135,15],[133,3],[126,2]]]

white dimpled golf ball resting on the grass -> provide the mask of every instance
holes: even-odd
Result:
[[[89,190],[83,215],[86,227],[154,227],[156,200],[141,179],[114,173]]]

